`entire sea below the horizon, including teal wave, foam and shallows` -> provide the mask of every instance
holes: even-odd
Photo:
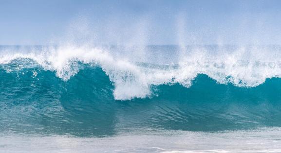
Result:
[[[280,153],[281,46],[0,46],[0,153]]]

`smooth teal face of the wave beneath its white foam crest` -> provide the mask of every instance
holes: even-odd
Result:
[[[120,101],[102,67],[82,64],[64,81],[56,71],[30,63],[18,59],[0,68],[3,131],[112,136],[139,128],[218,131],[281,126],[280,78],[248,88],[218,84],[199,74],[188,88],[180,83],[151,85],[150,97]]]

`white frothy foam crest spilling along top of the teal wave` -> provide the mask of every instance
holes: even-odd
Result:
[[[206,47],[196,47],[179,54],[180,57],[173,61],[176,68],[167,65],[156,68],[140,64],[142,61],[133,61],[129,58],[130,52],[116,56],[118,53],[101,47],[61,45],[43,47],[40,51],[35,48],[28,51],[8,48],[0,51],[0,64],[29,58],[46,70],[56,71],[56,75],[64,81],[79,71],[78,62],[99,65],[115,86],[114,98],[130,100],[150,96],[151,85],[179,83],[190,87],[192,80],[201,73],[220,84],[261,85],[266,78],[281,76],[281,56],[278,52],[268,47],[237,47],[232,51],[209,51]],[[146,58],[146,54],[142,56]],[[165,58],[162,63],[165,63]]]

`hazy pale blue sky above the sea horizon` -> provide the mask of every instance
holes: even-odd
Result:
[[[100,44],[281,44],[281,0],[0,0],[0,45],[69,37]]]

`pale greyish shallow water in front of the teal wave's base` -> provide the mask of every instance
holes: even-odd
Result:
[[[280,153],[281,128],[150,131],[108,137],[0,136],[0,153]],[[202,150],[204,148],[204,150]]]

